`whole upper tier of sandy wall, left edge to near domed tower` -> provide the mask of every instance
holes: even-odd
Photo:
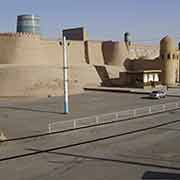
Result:
[[[70,41],[69,64],[99,64],[119,66],[125,71],[126,59],[158,56],[154,46],[132,45],[129,52],[123,42]],[[138,54],[139,53],[139,54]],[[145,58],[148,59],[148,58]],[[62,46],[58,41],[40,39],[27,33],[0,34],[0,64],[62,65]]]

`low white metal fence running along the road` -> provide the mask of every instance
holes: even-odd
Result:
[[[68,129],[77,129],[92,125],[100,125],[114,121],[126,120],[129,118],[137,118],[144,115],[152,115],[168,110],[175,110],[180,108],[180,102],[170,102],[166,104],[157,104],[152,106],[145,106],[143,108],[129,109],[108,114],[100,114],[96,116],[83,117],[79,119],[72,119],[66,121],[52,122],[48,124],[48,132],[63,131]]]

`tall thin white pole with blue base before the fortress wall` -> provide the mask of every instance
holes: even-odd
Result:
[[[67,42],[63,37],[63,76],[64,76],[64,114],[69,113],[68,102],[68,63],[67,63]]]

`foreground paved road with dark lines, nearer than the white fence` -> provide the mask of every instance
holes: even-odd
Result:
[[[14,180],[180,179],[179,117],[180,111],[172,111],[101,128],[2,144],[1,158],[118,134],[35,156],[0,161],[0,177]],[[155,127],[159,124],[166,125]],[[144,129],[148,127],[151,128]]]

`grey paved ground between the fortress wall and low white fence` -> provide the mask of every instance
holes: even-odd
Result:
[[[27,136],[47,131],[49,122],[118,112],[179,100],[179,97],[152,100],[148,99],[147,95],[89,92],[70,96],[71,113],[64,115],[63,97],[38,100],[31,98],[2,99],[0,103],[0,128],[8,138]]]

